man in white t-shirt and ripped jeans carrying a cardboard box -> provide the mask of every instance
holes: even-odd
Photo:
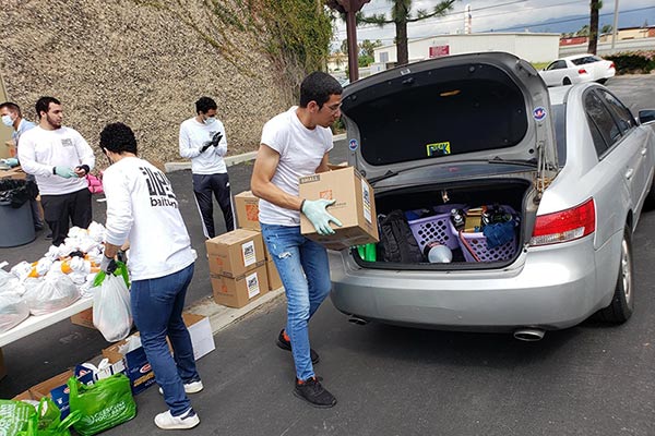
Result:
[[[341,222],[325,208],[335,199],[298,196],[298,179],[327,171],[332,149],[330,125],[341,117],[342,86],[322,72],[309,74],[300,85],[300,106],[269,120],[252,170],[252,193],[261,198],[259,219],[264,242],[277,267],[287,296],[287,325],[278,347],[291,351],[296,365],[294,393],[318,408],[336,404],[318,380],[312,363],[308,323],[330,293],[327,252],[300,234],[300,213],[320,234],[332,234],[330,221]]]

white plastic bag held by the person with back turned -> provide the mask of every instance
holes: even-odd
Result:
[[[132,329],[130,292],[122,276],[108,274],[93,294],[93,325],[108,342],[126,339]]]

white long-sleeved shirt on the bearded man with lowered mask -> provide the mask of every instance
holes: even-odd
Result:
[[[40,125],[21,135],[19,147],[21,168],[34,174],[41,195],[61,195],[88,186],[86,178],[64,179],[52,173],[52,167],[87,165],[93,169],[95,156],[82,135],[71,128],[45,130]]]

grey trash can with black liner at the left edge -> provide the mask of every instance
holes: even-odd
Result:
[[[27,244],[36,238],[29,201],[36,198],[36,183],[0,180],[0,247]]]

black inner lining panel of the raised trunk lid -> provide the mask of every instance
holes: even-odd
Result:
[[[361,154],[374,166],[512,147],[528,125],[522,90],[491,66],[379,83],[348,96],[342,110],[357,124]]]

